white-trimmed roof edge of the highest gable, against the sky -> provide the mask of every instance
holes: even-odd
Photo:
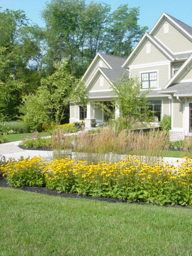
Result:
[[[165,12],[162,13],[156,24],[152,27],[150,30],[149,34],[152,34],[156,27],[160,24],[160,22],[164,19],[167,18],[170,22],[172,22],[174,25],[176,25],[182,32],[184,32],[188,37],[192,39],[192,27],[188,26],[184,22],[172,17],[169,14],[166,14]]]

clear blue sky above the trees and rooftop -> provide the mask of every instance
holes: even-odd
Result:
[[[40,18],[40,11],[44,8],[46,2],[46,0],[0,0],[0,6],[3,9],[24,10],[32,22],[44,26]],[[89,2],[90,0],[86,0],[86,3]],[[140,6],[139,24],[141,26],[152,28],[162,12],[166,12],[192,26],[192,0],[102,0],[102,2],[110,4],[112,11],[120,4],[128,3],[129,7]]]

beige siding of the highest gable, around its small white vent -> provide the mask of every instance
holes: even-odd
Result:
[[[164,43],[172,52],[184,52],[192,50],[192,42],[188,40],[184,34],[179,32],[174,26],[169,23],[169,32],[164,34],[164,24],[160,26],[159,30],[154,34],[162,43]]]

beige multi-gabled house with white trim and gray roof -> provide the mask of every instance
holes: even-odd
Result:
[[[70,104],[70,122],[85,120],[87,127],[104,122],[93,102],[114,100],[111,84],[124,72],[140,79],[141,90],[152,88],[148,98],[158,121],[171,116],[170,140],[192,135],[192,27],[163,13],[127,59],[98,53],[82,77],[89,92],[87,107]]]

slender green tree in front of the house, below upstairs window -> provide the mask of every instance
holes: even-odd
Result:
[[[150,122],[152,120],[150,102],[146,97],[150,90],[140,91],[141,83],[138,78],[130,78],[124,73],[119,82],[112,84],[112,91],[116,95],[120,117],[119,122],[125,128],[132,128],[136,122]]]

